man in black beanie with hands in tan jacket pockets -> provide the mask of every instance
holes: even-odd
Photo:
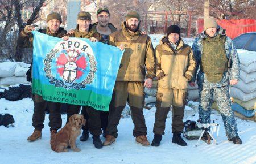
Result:
[[[187,98],[188,81],[195,72],[196,62],[191,46],[185,44],[180,37],[180,28],[171,25],[167,36],[162,38],[155,48],[156,77],[158,91],[156,93],[156,113],[154,139],[152,146],[159,146],[164,135],[166,118],[172,106],[172,143],[187,146],[182,139],[184,109]]]

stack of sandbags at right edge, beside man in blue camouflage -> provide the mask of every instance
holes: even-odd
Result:
[[[238,55],[241,79],[230,87],[232,109],[240,118],[256,121],[256,52],[238,49]]]

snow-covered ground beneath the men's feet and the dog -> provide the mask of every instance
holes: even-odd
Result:
[[[220,114],[214,111],[212,119],[220,123],[220,135],[216,137],[218,145],[207,145],[203,141],[195,147],[196,140],[187,141],[182,147],[171,142],[171,117],[166,120],[166,135],[162,143],[155,148],[144,147],[135,143],[132,135],[133,122],[130,117],[121,119],[118,126],[117,141],[109,147],[94,148],[92,136],[86,142],[77,139],[81,152],[55,153],[49,144],[48,114],[44,122],[42,139],[30,143],[33,103],[29,98],[20,101],[0,99],[0,113],[14,116],[14,127],[0,126],[0,163],[256,163],[256,123],[236,118],[242,145],[235,145],[226,140]],[[198,106],[198,103],[192,103]],[[148,140],[152,141],[152,128],[155,120],[155,107],[144,109]],[[63,126],[67,115],[62,115]],[[198,114],[184,119],[197,120]],[[103,137],[101,137],[104,140]]]

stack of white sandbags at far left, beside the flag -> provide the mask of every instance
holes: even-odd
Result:
[[[29,67],[23,62],[0,63],[0,85],[28,84],[26,72]]]

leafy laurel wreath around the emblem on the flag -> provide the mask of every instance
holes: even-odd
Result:
[[[67,86],[64,84],[63,80],[57,80],[55,79],[55,77],[52,75],[52,71],[51,71],[51,62],[52,62],[52,58],[55,57],[55,54],[58,52],[59,50],[55,49],[55,50],[51,50],[47,55],[46,55],[46,59],[44,59],[44,71],[46,72],[46,77],[50,80],[49,83],[53,84],[55,87],[64,87],[64,88],[69,88],[69,89],[81,89],[81,88],[85,88],[86,84],[90,84],[92,83],[92,80],[95,76],[95,72],[97,71],[97,62],[95,61],[95,57],[94,55],[88,54],[87,53],[87,57],[89,58],[89,63],[90,63],[90,71],[89,74],[87,75],[86,79],[83,80],[81,83],[73,83],[71,86]]]

